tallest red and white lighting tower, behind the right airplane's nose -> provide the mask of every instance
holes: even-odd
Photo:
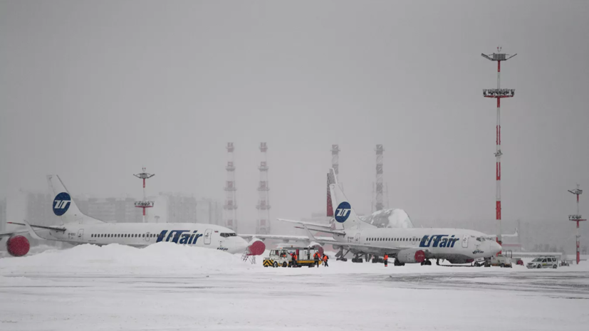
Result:
[[[496,126],[496,152],[495,152],[495,172],[496,172],[496,202],[495,202],[495,218],[496,218],[496,231],[497,231],[497,243],[501,245],[503,240],[501,239],[501,99],[512,98],[516,90],[509,90],[501,88],[501,61],[507,61],[513,58],[517,54],[509,55],[501,52],[501,47],[497,47],[497,53],[489,55],[481,54],[484,58],[491,61],[497,61],[497,88],[491,88],[489,90],[483,90],[483,96],[485,98],[497,99],[497,126]]]

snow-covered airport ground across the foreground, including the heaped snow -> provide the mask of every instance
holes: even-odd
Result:
[[[589,263],[264,268],[158,243],[0,259],[0,330],[586,330]]]

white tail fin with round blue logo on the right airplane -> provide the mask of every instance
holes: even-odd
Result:
[[[333,219],[335,222],[335,229],[360,229],[360,228],[375,228],[372,224],[365,223],[360,220],[353,207],[348,202],[343,191],[338,184],[338,179],[335,177],[335,169],[329,169],[329,191],[331,196],[331,203],[335,206],[333,211]]]

